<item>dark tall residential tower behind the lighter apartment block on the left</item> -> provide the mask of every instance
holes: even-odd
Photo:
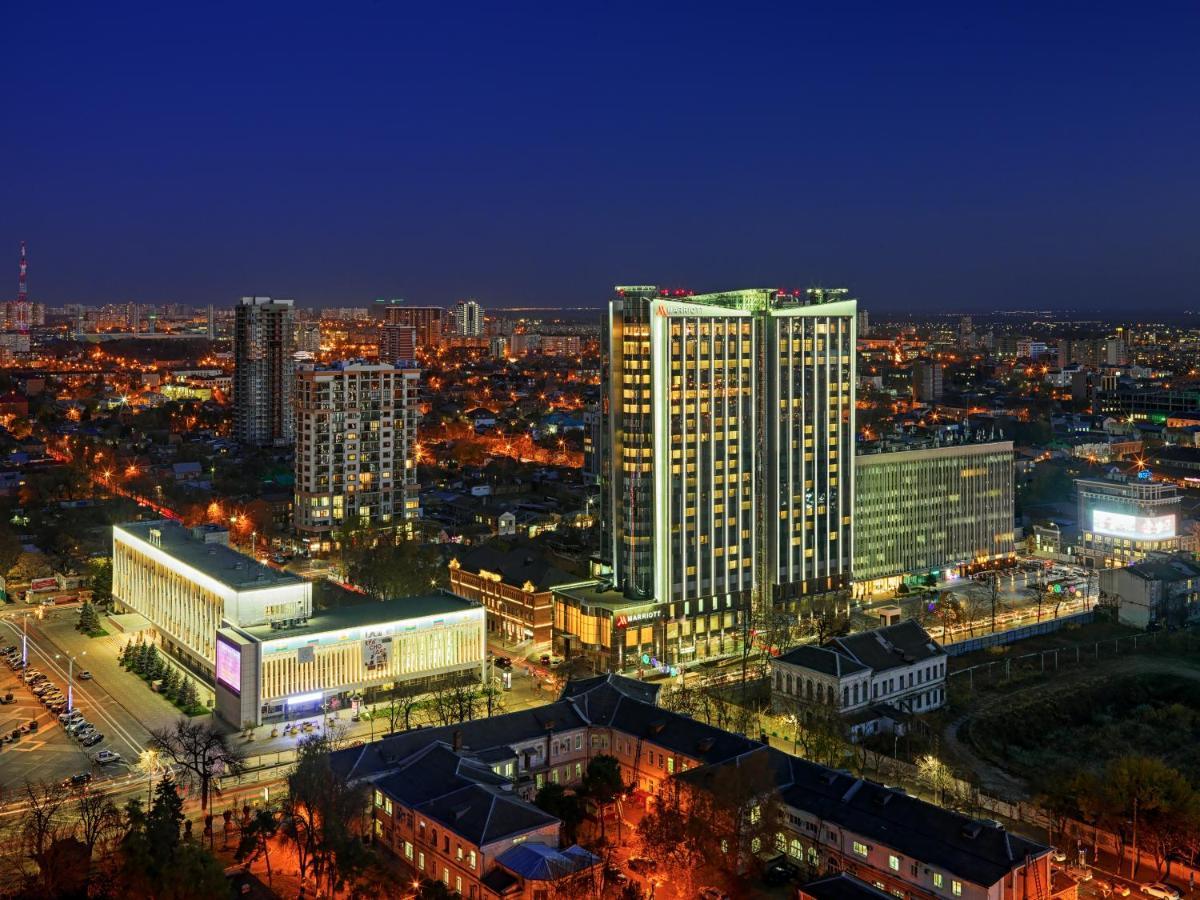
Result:
[[[233,330],[233,433],[241,443],[292,443],[295,350],[292,301],[244,296]]]

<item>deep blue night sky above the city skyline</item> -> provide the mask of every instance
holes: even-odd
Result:
[[[805,6],[11,4],[0,296],[1195,306],[1200,7]]]

